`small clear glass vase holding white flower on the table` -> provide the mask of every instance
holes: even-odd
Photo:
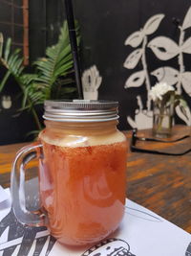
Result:
[[[153,107],[153,135],[158,138],[171,136],[174,117],[174,102],[164,104],[162,101],[154,102]]]

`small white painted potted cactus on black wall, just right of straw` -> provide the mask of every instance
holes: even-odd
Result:
[[[99,76],[99,71],[96,65],[85,70],[82,74],[82,86],[84,100],[97,100],[98,88],[101,84],[102,78]]]

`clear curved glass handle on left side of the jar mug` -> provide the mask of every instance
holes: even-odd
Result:
[[[23,224],[30,226],[45,225],[45,214],[40,209],[29,211],[26,207],[25,173],[26,165],[34,158],[43,156],[42,144],[33,143],[17,152],[11,169],[11,199],[15,217]]]

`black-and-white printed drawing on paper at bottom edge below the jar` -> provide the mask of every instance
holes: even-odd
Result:
[[[81,256],[136,256],[130,252],[130,245],[121,239],[111,238],[86,250]]]

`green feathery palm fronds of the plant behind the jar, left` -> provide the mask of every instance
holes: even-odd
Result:
[[[77,23],[75,24],[77,43],[79,44],[79,27]],[[60,29],[57,43],[46,49],[45,58],[39,58],[33,63],[34,74],[25,73],[20,50],[16,49],[11,52],[11,38],[8,38],[4,45],[2,34],[0,34],[0,64],[7,69],[7,73],[0,83],[0,91],[12,76],[23,93],[19,110],[32,111],[37,128],[41,128],[41,124],[35,111],[35,105],[43,104],[45,100],[52,99],[53,95],[58,98],[64,95],[68,97],[68,94],[76,90],[69,86],[74,81],[66,77],[66,75],[74,73],[66,21]]]

